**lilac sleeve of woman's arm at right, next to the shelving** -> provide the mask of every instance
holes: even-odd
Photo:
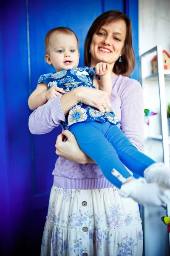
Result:
[[[121,129],[139,151],[144,151],[144,104],[141,84],[124,81],[121,94]]]

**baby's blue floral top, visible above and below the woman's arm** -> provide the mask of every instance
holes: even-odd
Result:
[[[73,90],[78,86],[95,88],[93,79],[96,78],[95,68],[77,67],[71,70],[62,70],[56,73],[48,73],[40,76],[38,84],[44,82],[51,87],[63,88],[65,93]],[[70,125],[76,122],[111,122],[113,125],[119,125],[118,116],[113,111],[102,113],[98,109],[82,104],[81,102],[75,105],[66,116],[66,121],[61,122],[64,129],[68,129]]]

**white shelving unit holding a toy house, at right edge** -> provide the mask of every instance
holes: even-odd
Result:
[[[151,74],[150,61],[153,53],[157,55],[158,72]],[[164,161],[167,166],[170,166],[170,136],[168,136],[166,102],[166,99],[170,101],[170,93],[166,94],[167,88],[170,90],[170,70],[164,70],[161,46],[156,46],[142,54],[140,61],[141,84],[145,92],[144,97],[146,97],[144,99],[146,99],[145,103],[149,105],[149,107],[145,105],[145,108],[151,109],[157,107],[159,110],[156,111],[158,115],[150,118],[152,125],[147,128],[145,127],[147,131],[145,140],[147,153],[148,155],[151,154],[153,157],[156,154],[158,158],[161,156],[161,161]],[[153,109],[151,109],[151,111],[153,111]],[[170,234],[169,237],[167,237],[167,228],[161,225],[162,216],[167,215],[170,217],[170,204],[167,204],[167,207],[164,207],[164,209],[162,207],[141,207],[141,213],[144,230],[144,248],[147,256],[147,252],[151,250],[148,239],[152,236],[156,237],[156,240],[164,244],[164,246],[168,247],[170,245]],[[156,241],[152,240],[152,242],[152,253],[156,255]],[[167,255],[163,248],[160,255]]]

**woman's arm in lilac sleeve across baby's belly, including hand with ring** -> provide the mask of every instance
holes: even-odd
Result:
[[[34,110],[28,123],[31,133],[45,134],[52,131],[62,121],[65,122],[69,110],[79,102],[98,108],[103,113],[104,106],[111,108],[107,93],[93,88],[77,87],[62,96],[48,100],[46,104]]]

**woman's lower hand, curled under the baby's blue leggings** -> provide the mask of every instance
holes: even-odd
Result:
[[[67,137],[67,140],[65,140]],[[80,148],[74,135],[68,131],[62,131],[56,140],[56,154],[76,163],[95,163]]]

